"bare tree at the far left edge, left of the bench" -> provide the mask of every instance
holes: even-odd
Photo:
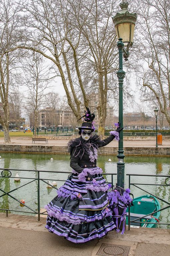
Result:
[[[0,0],[0,99],[1,114],[0,123],[4,129],[4,143],[10,143],[9,136],[9,102],[8,94],[10,86],[17,83],[17,67],[22,53],[13,51],[18,42],[21,42],[23,30],[20,28],[17,3]]]

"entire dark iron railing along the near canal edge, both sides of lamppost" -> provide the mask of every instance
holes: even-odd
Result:
[[[23,211],[23,210],[17,210],[17,209],[10,209],[10,208],[0,208],[1,211],[6,211],[6,217],[8,217],[8,212],[10,211],[13,211],[13,212],[23,212],[23,213],[26,213],[26,214],[35,214],[35,215],[38,215],[38,221],[40,221],[40,214],[41,215],[47,215],[46,211],[44,212],[40,212],[40,187],[41,187],[41,182],[43,183],[46,183],[46,184],[49,184],[47,182],[47,180],[49,181],[52,181],[54,179],[47,179],[47,178],[41,178],[41,173],[61,173],[61,174],[71,174],[71,172],[62,172],[62,171],[47,171],[47,170],[24,170],[24,169],[6,169],[6,168],[0,168],[0,179],[2,178],[10,178],[10,179],[14,179],[15,176],[12,176],[12,172],[18,172],[18,171],[24,171],[24,172],[34,172],[37,176],[36,178],[35,177],[18,177],[20,179],[27,179],[28,182],[26,182],[25,184],[23,185],[20,185],[19,187],[17,188],[14,188],[12,190],[9,190],[9,191],[5,191],[4,189],[2,189],[0,187],[0,191],[2,192],[2,194],[0,195],[0,198],[5,196],[5,195],[8,195],[9,197],[11,197],[12,199],[16,200],[18,203],[24,205],[26,208],[29,209],[29,211]],[[107,183],[111,183],[112,186],[113,186],[113,176],[114,175],[117,175],[117,173],[102,173],[103,176],[111,176],[111,182],[107,182]],[[167,208],[170,207],[170,202],[164,200],[163,198],[157,196],[157,195],[154,195],[151,191],[147,191],[145,190],[144,188],[141,188],[140,185],[151,185],[151,186],[165,186],[165,187],[170,187],[170,175],[152,175],[152,174],[126,174],[128,177],[129,177],[129,188],[131,188],[131,186],[134,186],[142,191],[144,191],[145,193],[147,194],[150,194],[152,196],[155,196],[157,199],[159,199],[160,201],[168,204],[168,206],[165,206],[163,208],[161,208],[160,210],[158,211],[163,211]],[[165,178],[164,182],[161,183],[161,184],[155,184],[155,183],[135,183],[135,182],[131,182],[131,176],[137,176],[137,177],[161,177],[161,178]],[[21,202],[19,199],[17,199],[16,197],[14,197],[13,195],[11,195],[12,192],[34,182],[34,181],[37,181],[37,206],[38,206],[38,209],[35,210],[33,209],[32,207],[28,206],[26,203],[23,203]],[[62,181],[62,182],[65,182],[65,180],[63,179],[55,179],[55,181]],[[56,188],[55,186],[53,186],[52,184],[50,184],[54,189],[58,189]],[[146,222],[140,222],[138,221],[139,219],[141,218],[136,218],[135,220],[131,220],[130,221],[130,207],[128,209],[128,229],[130,230],[130,223],[146,223]],[[146,217],[146,216],[149,216],[149,215],[153,215],[154,213],[156,213],[157,211],[153,211],[143,217]],[[150,222],[150,224],[152,224]],[[155,224],[155,223],[154,223]],[[160,225],[170,225],[170,223],[159,223]]]

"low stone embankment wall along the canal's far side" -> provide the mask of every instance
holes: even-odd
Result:
[[[99,154],[102,155],[117,155],[118,147],[105,146],[99,149]],[[16,145],[16,144],[0,144],[0,152],[8,153],[35,153],[35,154],[64,154],[67,155],[66,145]],[[170,147],[124,147],[125,155],[159,155],[170,156]]]

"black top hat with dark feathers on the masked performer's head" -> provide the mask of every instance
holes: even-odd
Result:
[[[81,124],[81,127],[79,127],[78,129],[81,130],[90,130],[92,132],[94,132],[95,127],[93,124],[93,120],[95,118],[95,114],[90,112],[90,109],[88,107],[86,107],[87,111],[84,111],[85,115],[83,115],[82,117],[84,117],[84,121]],[[82,118],[80,117],[80,119]],[[80,120],[79,119],[79,120]],[[79,121],[77,120],[77,121]]]

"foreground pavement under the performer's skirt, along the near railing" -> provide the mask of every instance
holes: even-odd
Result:
[[[130,247],[128,256],[169,256],[170,230],[131,229],[123,235],[109,232],[107,238],[85,244],[73,244],[63,237],[51,234],[45,228],[45,219],[0,213],[0,255],[2,256],[96,256],[120,255],[99,253],[101,246]],[[103,245],[104,244],[104,245]],[[115,247],[114,247],[115,248]],[[128,248],[129,249],[129,248]],[[121,254],[122,255],[122,254]]]

